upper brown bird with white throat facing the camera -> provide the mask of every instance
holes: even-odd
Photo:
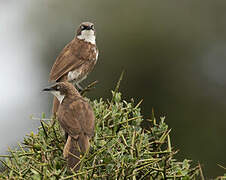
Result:
[[[94,24],[91,22],[81,23],[75,37],[56,58],[50,72],[49,81],[68,81],[82,90],[83,88],[79,83],[86,79],[87,75],[93,70],[98,54]],[[58,106],[59,101],[54,97],[52,108],[54,115],[57,113]]]

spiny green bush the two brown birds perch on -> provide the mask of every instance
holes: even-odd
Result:
[[[90,101],[95,135],[77,173],[63,159],[65,138],[58,122],[42,117],[37,134],[31,132],[18,149],[1,156],[0,179],[200,179],[200,166],[174,159],[165,118],[157,121],[153,115],[150,127],[143,129],[141,102],[126,102],[121,96],[113,91],[112,100]]]

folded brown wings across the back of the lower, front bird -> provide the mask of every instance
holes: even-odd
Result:
[[[70,103],[59,117],[62,128],[72,137],[81,133],[91,137],[94,134],[94,113],[91,106],[83,99]]]

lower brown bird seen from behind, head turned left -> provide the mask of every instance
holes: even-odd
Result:
[[[89,151],[89,140],[94,135],[94,111],[69,82],[55,83],[43,91],[51,92],[59,101],[58,121],[68,134],[63,156],[68,167],[76,172],[82,155]]]

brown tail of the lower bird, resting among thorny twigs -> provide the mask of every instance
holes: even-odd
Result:
[[[68,136],[64,146],[64,157],[67,159],[68,167],[74,171],[80,168],[81,155],[89,150],[89,138],[86,135],[79,135],[78,139]]]

